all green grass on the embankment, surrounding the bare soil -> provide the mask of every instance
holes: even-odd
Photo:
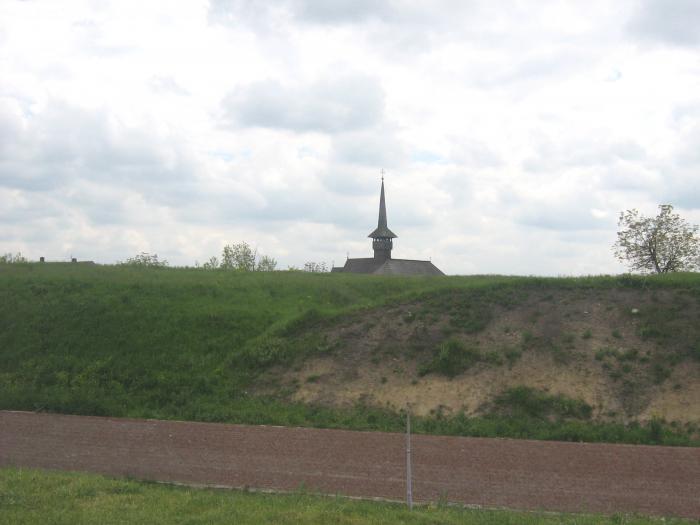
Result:
[[[329,351],[318,328],[353,312],[407,301],[446,305],[460,326],[478,331],[489,319],[477,304],[507,304],[527,290],[615,287],[700,297],[697,274],[421,279],[0,265],[0,408],[400,430],[401,415],[390,410],[291,403],[252,392],[271,366]],[[672,338],[673,313],[662,314],[668,319],[650,324],[649,335]],[[415,425],[443,434],[698,444],[692,433],[658,422],[647,428],[509,414],[438,415],[416,418]]]

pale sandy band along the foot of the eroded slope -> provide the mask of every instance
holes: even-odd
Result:
[[[415,363],[398,359],[389,365],[362,367],[352,379],[344,378],[337,365],[332,357],[308,361],[292,376],[300,384],[292,399],[334,406],[351,406],[358,401],[393,409],[408,405],[417,415],[437,410],[476,415],[502,391],[522,385],[584,400],[593,407],[594,417],[626,419],[617,385],[596,369],[599,367],[584,363],[560,366],[536,353],[524,355],[511,368],[479,365],[453,379],[435,374],[417,377],[413,373]],[[700,422],[698,377],[700,365],[679,366],[664,384],[650,387],[650,402],[634,419],[663,417],[667,421]]]

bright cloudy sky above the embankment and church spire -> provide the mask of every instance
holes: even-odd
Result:
[[[0,0],[0,253],[621,273],[700,223],[697,0]]]

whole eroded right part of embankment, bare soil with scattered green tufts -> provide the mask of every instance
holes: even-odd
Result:
[[[583,401],[596,420],[698,423],[698,319],[698,298],[682,290],[442,292],[326,323],[330,350],[272,369],[260,389],[480,415],[530,387]]]

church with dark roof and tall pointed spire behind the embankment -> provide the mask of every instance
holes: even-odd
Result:
[[[392,259],[391,250],[397,235],[387,226],[384,201],[384,177],[379,194],[379,220],[377,228],[368,235],[372,239],[374,257],[350,259],[345,266],[334,267],[332,272],[371,273],[375,275],[445,275],[431,261]]]

